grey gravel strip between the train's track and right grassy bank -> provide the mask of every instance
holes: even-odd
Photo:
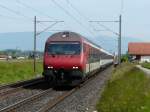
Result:
[[[109,67],[100,72],[96,78],[60,102],[49,112],[96,112],[96,102],[100,98],[111,71],[112,67]]]

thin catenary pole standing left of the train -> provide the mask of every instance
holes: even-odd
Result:
[[[33,53],[34,63],[33,69],[34,73],[36,72],[36,16],[34,17],[34,53]]]

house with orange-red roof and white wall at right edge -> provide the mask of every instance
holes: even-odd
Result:
[[[132,60],[150,62],[150,42],[129,43],[128,54],[132,57]]]

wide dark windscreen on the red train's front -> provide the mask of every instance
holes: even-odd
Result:
[[[57,55],[79,55],[80,42],[51,42],[47,44],[46,52]]]

